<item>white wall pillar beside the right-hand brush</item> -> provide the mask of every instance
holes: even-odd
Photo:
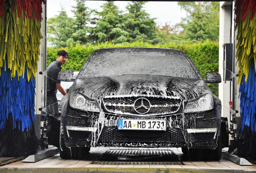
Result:
[[[219,83],[219,99],[222,103],[222,117],[228,117],[230,120],[230,107],[229,101],[233,102],[233,110],[239,111],[239,99],[238,90],[239,85],[236,84],[237,77],[237,66],[235,66],[235,15],[234,15],[234,2],[220,2],[220,22],[219,22],[219,73],[221,74],[222,80],[224,79],[224,68],[227,63],[232,63],[233,66],[233,78]],[[224,47],[226,44],[233,44],[233,62],[227,62],[225,59]],[[225,60],[224,60],[225,59]],[[228,71],[228,70],[227,70]],[[239,113],[235,116],[240,116]]]

